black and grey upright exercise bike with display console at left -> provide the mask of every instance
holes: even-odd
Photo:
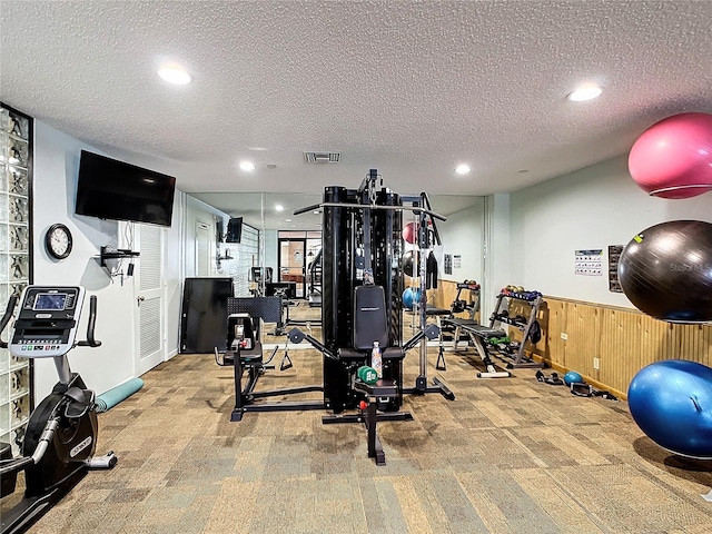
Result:
[[[69,368],[67,353],[76,346],[98,347],[93,337],[97,297],[89,300],[87,339],[76,340],[85,298],[82,287],[28,286],[9,342],[1,339],[12,317],[17,296],[10,297],[0,320],[0,347],[16,357],[53,358],[59,382],[30,415],[22,438],[22,456],[12,458],[10,444],[0,444],[1,496],[14,493],[17,475],[24,471],[24,497],[2,514],[2,534],[27,531],[83,478],[89,469],[111,468],[112,452],[93,457],[98,423],[95,393]]]

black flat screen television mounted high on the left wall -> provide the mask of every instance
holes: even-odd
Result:
[[[176,178],[81,151],[75,214],[170,226]]]

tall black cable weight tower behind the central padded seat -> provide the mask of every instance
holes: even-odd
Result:
[[[379,182],[380,188],[377,188]],[[425,291],[421,291],[421,332],[413,339],[403,343],[403,212],[413,211],[419,225],[418,244],[421,254],[427,254],[433,243],[439,244],[435,220],[446,220],[431,209],[425,192],[418,196],[399,196],[383,187],[383,179],[376,169],[370,169],[358,189],[340,186],[325,188],[322,204],[298,209],[300,215],[314,209],[323,209],[323,290],[322,334],[324,354],[325,404],[334,413],[356,406],[358,395],[350,387],[352,369],[344,359],[329,357],[344,347],[353,346],[356,288],[367,284],[382,286],[389,347],[405,350],[414,348],[415,338],[421,343],[419,373],[414,387],[403,386],[402,359],[394,359],[384,370],[384,378],[398,385],[398,395],[389,402],[388,411],[403,404],[403,394],[423,395],[439,393],[447,399],[454,394],[438,378],[427,379],[427,328],[425,317]],[[425,261],[419,261],[421,284],[425,286]],[[425,334],[427,330],[427,334]]]

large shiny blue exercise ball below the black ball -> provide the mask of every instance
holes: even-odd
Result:
[[[627,389],[641,431],[668,451],[712,458],[712,368],[683,359],[643,367]]]

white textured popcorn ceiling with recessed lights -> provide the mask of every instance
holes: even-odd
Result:
[[[369,168],[404,194],[513,191],[712,112],[711,1],[2,0],[0,16],[2,101],[189,192],[318,192]],[[162,82],[164,60],[194,82]],[[601,98],[566,99],[587,81]]]

